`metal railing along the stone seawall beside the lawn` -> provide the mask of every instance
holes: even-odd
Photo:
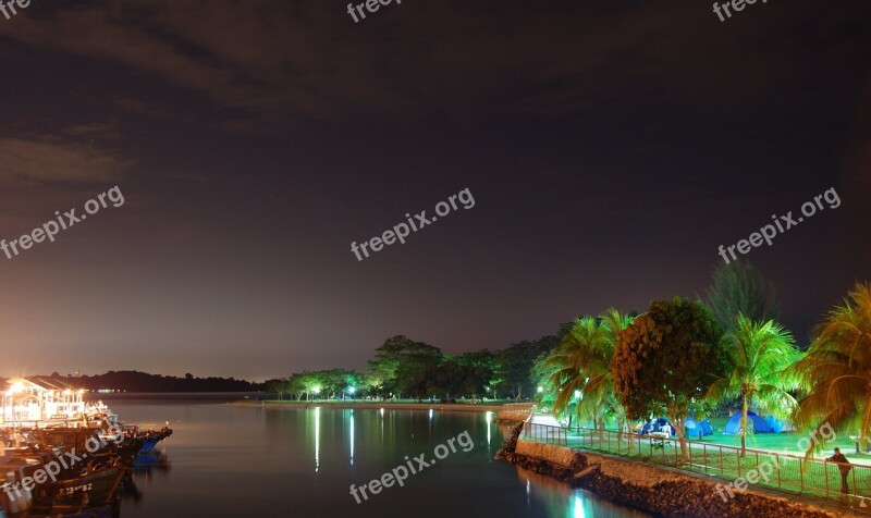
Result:
[[[752,481],[749,488],[777,488],[825,497],[844,494],[842,465],[824,459],[805,459],[757,449],[746,449],[741,456],[739,447],[698,441],[685,441],[682,455],[677,439],[589,428],[567,429],[533,422],[524,424],[520,439],[641,459],[726,480],[744,478]],[[870,497],[871,466],[852,464],[849,467],[846,494],[862,499]]]

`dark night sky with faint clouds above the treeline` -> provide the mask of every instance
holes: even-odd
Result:
[[[365,9],[365,8],[364,8]],[[871,281],[871,2],[32,0],[0,14],[0,375],[262,380],[696,296],[810,328]],[[468,188],[405,244],[361,243]]]

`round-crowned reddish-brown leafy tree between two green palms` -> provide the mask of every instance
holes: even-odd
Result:
[[[701,301],[658,300],[618,334],[611,362],[617,397],[630,419],[664,411],[687,455],[689,409],[725,374],[723,332]]]

